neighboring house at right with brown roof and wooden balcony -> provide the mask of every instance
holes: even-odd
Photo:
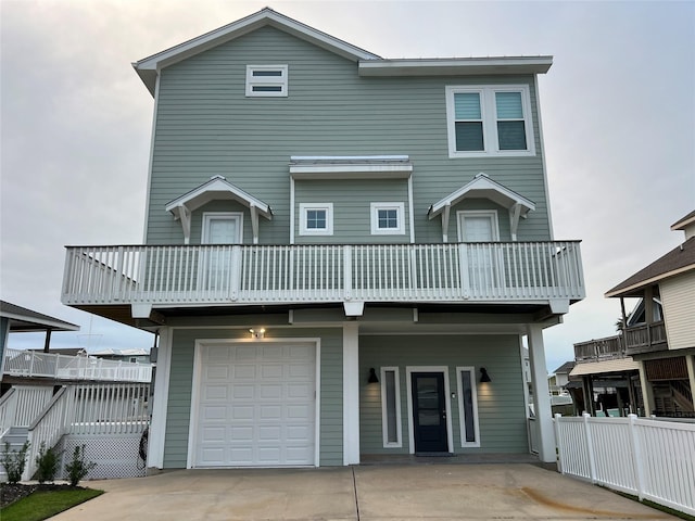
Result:
[[[620,298],[620,334],[574,344],[592,414],[695,417],[695,212],[671,230],[685,241],[606,293]],[[630,315],[626,298],[639,298]]]

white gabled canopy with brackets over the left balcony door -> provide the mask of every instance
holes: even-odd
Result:
[[[175,219],[181,220],[186,244],[190,242],[191,237],[191,213],[211,201],[219,200],[237,201],[249,207],[251,227],[253,229],[253,243],[257,244],[258,215],[270,220],[273,218],[273,209],[260,199],[228,182],[223,176],[214,176],[210,181],[166,204],[166,211],[170,212]]]

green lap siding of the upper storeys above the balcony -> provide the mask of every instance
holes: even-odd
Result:
[[[249,64],[287,64],[289,96],[247,98]],[[530,87],[536,155],[450,158],[446,86],[505,84]],[[291,156],[400,154],[408,155],[414,166],[417,242],[441,242],[441,219],[430,220],[428,208],[480,171],[535,203],[535,212],[521,219],[518,240],[548,240],[536,103],[533,75],[361,77],[355,62],[263,27],[161,72],[147,242],[180,243],[180,221],[165,212],[166,203],[220,175],[271,206],[273,220],[260,219],[260,242],[287,243]],[[379,198],[376,202],[407,201],[405,180],[390,181],[396,188],[387,193],[377,180],[336,181],[342,185],[336,185],[332,193],[326,182],[309,188],[312,182],[318,181],[298,181],[298,190],[307,198],[309,190],[324,191],[314,193],[318,202],[336,202],[336,233],[330,242],[374,239],[359,232],[369,224],[368,214],[359,211],[354,226],[349,225],[353,218],[349,213],[357,209],[354,201],[369,202],[371,196]],[[371,188],[374,194],[364,199],[364,191]],[[303,201],[295,200],[298,207]],[[217,207],[229,209],[233,204]],[[245,229],[249,220],[245,208],[244,242],[251,242]],[[498,220],[508,221],[506,211],[500,212]],[[192,243],[200,240],[200,217],[195,215],[191,236]],[[401,237],[409,239],[409,230]],[[395,240],[392,236],[380,239]]]

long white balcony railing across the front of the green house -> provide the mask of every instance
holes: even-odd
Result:
[[[584,297],[579,242],[68,246],[67,305]]]

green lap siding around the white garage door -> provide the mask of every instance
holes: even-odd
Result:
[[[249,319],[249,327],[263,317]],[[166,414],[164,468],[186,467],[191,418],[193,353],[197,339],[248,340],[244,329],[175,329],[172,342],[169,394]],[[266,338],[320,339],[320,454],[319,465],[343,463],[342,329],[273,329]],[[317,384],[317,391],[319,385]]]

